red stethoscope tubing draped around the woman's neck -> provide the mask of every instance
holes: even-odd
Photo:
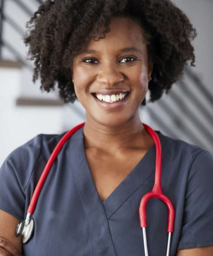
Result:
[[[59,143],[56,145],[54,151],[52,152],[48,162],[46,163],[45,168],[43,169],[42,175],[39,178],[39,181],[36,185],[35,191],[32,195],[29,207],[27,209],[27,213],[30,215],[33,214],[35,210],[35,206],[37,204],[38,196],[40,195],[40,190],[42,189],[43,183],[46,180],[46,177],[52,167],[52,164],[55,161],[55,158],[58,155],[58,152],[62,148],[63,144],[69,139],[69,137],[72,136],[72,134],[75,133],[78,129],[84,126],[84,122],[80,125],[75,126],[71,130],[69,130],[59,141]],[[139,207],[139,218],[140,218],[140,224],[141,227],[147,227],[147,221],[146,221],[146,205],[147,201],[150,198],[159,198],[167,205],[168,208],[168,228],[167,232],[173,233],[174,230],[174,220],[175,220],[175,209],[173,207],[173,204],[171,200],[163,194],[162,188],[161,188],[161,143],[158,138],[158,135],[153,131],[150,126],[142,123],[144,125],[144,128],[147,130],[147,132],[150,133],[150,135],[153,137],[153,140],[155,141],[155,147],[156,147],[156,162],[155,162],[155,183],[153,186],[153,190],[151,192],[148,192],[143,196],[141,199],[140,207]]]

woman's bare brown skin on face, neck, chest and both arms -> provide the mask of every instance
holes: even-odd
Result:
[[[71,67],[76,95],[86,109],[86,124],[83,128],[86,157],[102,200],[110,195],[154,143],[139,117],[141,102],[146,96],[153,70],[148,60],[143,31],[138,23],[124,17],[112,18],[110,29],[106,38],[92,40],[86,46],[86,49],[98,52],[76,56]],[[135,47],[139,52],[122,52],[121,49],[126,47]],[[85,58],[90,58],[90,61],[83,61]],[[91,94],[103,88],[129,90],[126,104],[113,110],[104,109]],[[101,166],[99,169],[105,166],[105,169],[97,174],[96,166]],[[112,171],[107,173],[109,169]],[[105,186],[101,180],[105,180]],[[17,223],[16,218],[0,211],[0,238],[4,239],[0,243],[0,256],[21,255],[17,254],[17,250],[16,254],[14,252],[15,247],[22,252],[20,237],[14,236]],[[213,247],[179,250],[176,256],[203,255],[213,255]]]

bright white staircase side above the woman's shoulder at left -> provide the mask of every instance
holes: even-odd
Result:
[[[6,156],[40,133],[58,134],[63,126],[63,108],[17,107],[21,70],[0,68],[0,165]]]

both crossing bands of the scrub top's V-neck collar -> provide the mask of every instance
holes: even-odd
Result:
[[[166,136],[160,131],[155,132],[161,141],[163,159],[169,148],[169,143]],[[108,219],[155,172],[155,144],[104,202],[98,195],[86,160],[83,128],[76,131],[68,140],[68,151],[69,166],[83,204],[96,255],[116,256]]]

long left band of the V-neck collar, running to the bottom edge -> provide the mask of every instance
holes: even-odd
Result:
[[[72,135],[68,141],[68,147],[70,152],[69,166],[83,204],[95,255],[116,256],[104,204],[95,188],[86,160],[83,128]]]

